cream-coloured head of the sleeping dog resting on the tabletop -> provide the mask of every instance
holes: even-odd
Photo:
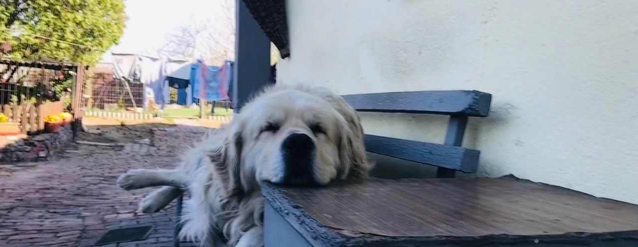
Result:
[[[262,181],[326,185],[367,176],[359,117],[324,88],[276,86],[242,108],[230,124],[224,167],[248,190]]]

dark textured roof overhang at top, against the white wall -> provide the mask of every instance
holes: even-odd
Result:
[[[285,0],[243,0],[265,32],[268,39],[277,46],[282,59],[290,56],[288,23],[286,22]]]

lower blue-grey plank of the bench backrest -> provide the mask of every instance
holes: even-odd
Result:
[[[460,146],[447,146],[373,135],[366,135],[364,142],[367,152],[445,167],[463,171],[464,173],[475,172],[479,164],[479,150]]]

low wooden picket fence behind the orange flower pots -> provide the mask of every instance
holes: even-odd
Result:
[[[44,118],[48,115],[62,113],[62,101],[47,102],[38,106],[27,104],[3,105],[2,113],[9,122],[20,123],[22,134],[34,134],[44,130]]]

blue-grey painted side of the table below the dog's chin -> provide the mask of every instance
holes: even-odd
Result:
[[[313,247],[268,202],[263,204],[263,246]]]

